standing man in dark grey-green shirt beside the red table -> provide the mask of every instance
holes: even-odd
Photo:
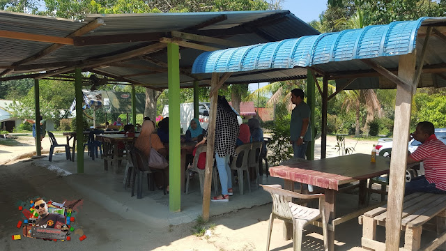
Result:
[[[309,130],[311,109],[304,102],[302,89],[291,90],[291,102],[295,107],[291,112],[290,142],[293,145],[294,158],[305,159],[308,142],[312,141],[312,132]]]

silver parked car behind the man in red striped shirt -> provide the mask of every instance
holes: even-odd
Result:
[[[440,139],[443,142],[443,144],[446,144],[446,128],[436,128],[435,135],[437,139]],[[392,153],[392,141],[393,139],[388,137],[378,139],[378,144],[376,144],[376,154],[390,157]],[[413,153],[420,145],[421,142],[415,139],[410,139],[408,151]],[[423,162],[421,162],[419,166],[411,167],[406,170],[406,182],[410,182],[413,178],[422,175],[424,175]]]

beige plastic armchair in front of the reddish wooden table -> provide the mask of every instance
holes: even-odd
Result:
[[[300,251],[302,246],[302,231],[306,225],[314,220],[322,218],[323,246],[328,250],[327,241],[327,220],[325,219],[325,195],[302,195],[298,192],[291,192],[282,189],[282,185],[261,185],[272,197],[272,211],[270,223],[268,225],[268,237],[266,240],[266,250],[270,250],[272,223],[275,218],[293,223],[293,250]],[[298,199],[319,199],[319,208],[308,208],[292,202],[292,198]]]

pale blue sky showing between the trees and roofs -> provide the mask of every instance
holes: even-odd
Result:
[[[319,20],[319,15],[327,9],[327,0],[284,0],[282,10],[289,10],[304,22]],[[260,87],[268,83],[260,83]],[[258,84],[249,84],[249,91],[257,89]]]

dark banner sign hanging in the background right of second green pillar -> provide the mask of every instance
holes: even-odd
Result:
[[[102,91],[102,108],[104,112],[132,113],[132,93]],[[136,110],[138,114],[144,114],[146,106],[146,94],[136,93]]]

